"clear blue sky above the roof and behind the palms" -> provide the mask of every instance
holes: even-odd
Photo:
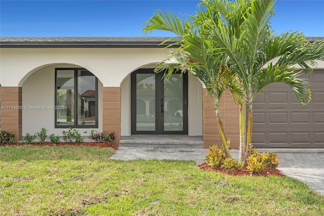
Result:
[[[0,0],[1,37],[141,37],[154,10],[193,15],[200,1],[15,1]],[[324,0],[277,0],[270,20],[288,30],[324,37]],[[166,31],[147,36],[170,37]]]

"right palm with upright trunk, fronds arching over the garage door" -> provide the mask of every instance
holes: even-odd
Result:
[[[245,159],[251,154],[252,103],[257,94],[267,85],[280,82],[290,85],[301,103],[309,102],[307,81],[299,78],[301,72],[296,73],[294,65],[299,64],[310,72],[310,66],[316,65],[314,60],[324,59],[324,42],[309,43],[299,32],[273,34],[269,20],[273,16],[274,3],[262,0],[203,3],[215,14],[213,19],[206,18],[213,32],[210,40],[218,44],[219,54],[228,55],[245,91],[248,105]]]

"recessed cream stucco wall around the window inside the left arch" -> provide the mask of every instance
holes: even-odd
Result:
[[[22,85],[23,107],[29,106],[54,106],[55,105],[55,67],[73,67],[71,64],[56,64],[36,70]],[[94,130],[102,130],[102,83],[98,81],[98,126]],[[48,134],[62,135],[66,128],[55,128],[55,110],[34,110],[32,108],[22,111],[22,133],[35,133],[45,127]],[[90,133],[91,128],[78,128],[81,135],[83,132]]]

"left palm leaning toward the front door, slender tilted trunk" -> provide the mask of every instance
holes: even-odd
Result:
[[[212,14],[209,14],[212,15]],[[207,89],[215,106],[216,120],[222,140],[222,148],[226,157],[230,157],[228,143],[224,132],[223,123],[220,118],[219,102],[225,91],[229,89],[235,101],[242,103],[244,92],[240,88],[238,76],[232,73],[227,55],[215,52],[217,44],[207,40],[211,29],[204,24],[201,15],[199,19],[190,17],[184,20],[172,13],[155,12],[155,16],[146,23],[143,31],[149,32],[153,29],[168,30],[177,35],[177,41],[173,45],[178,45],[178,49],[172,49],[170,56],[161,61],[155,68],[156,73],[165,71],[168,79],[175,70],[181,73],[189,73],[202,81]],[[174,38],[171,38],[172,40]]]

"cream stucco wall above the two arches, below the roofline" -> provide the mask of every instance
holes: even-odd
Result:
[[[132,71],[169,55],[160,48],[2,48],[0,54],[2,86],[22,86],[41,67],[69,63],[88,69],[109,87],[119,87]]]

